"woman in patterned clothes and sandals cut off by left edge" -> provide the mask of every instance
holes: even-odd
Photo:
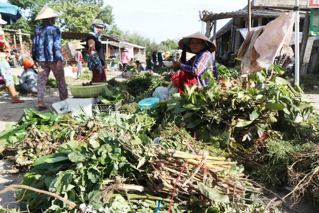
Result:
[[[0,74],[3,76],[6,86],[9,89],[11,94],[11,103],[22,103],[23,100],[20,100],[16,97],[13,76],[11,74],[11,68],[9,65],[9,53],[10,48],[8,42],[5,40],[3,29],[1,24],[6,24],[6,21],[1,18],[0,14]]]

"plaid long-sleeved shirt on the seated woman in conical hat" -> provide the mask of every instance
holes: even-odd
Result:
[[[213,55],[209,51],[200,51],[192,58],[190,58],[186,64],[181,64],[179,69],[191,73],[197,77],[198,86],[207,85],[207,79],[200,80],[202,74],[207,70],[207,66],[210,62],[208,69],[212,70],[215,81],[218,81],[218,73],[215,65]]]

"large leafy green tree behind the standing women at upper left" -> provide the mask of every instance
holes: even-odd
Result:
[[[60,12],[62,16],[57,18],[56,24],[61,31],[89,32],[91,21],[94,18],[102,19],[108,27],[104,34],[121,34],[121,30],[114,22],[110,5],[103,7],[103,0],[8,0],[20,8],[22,18],[11,26],[10,29],[21,29],[30,33],[41,24],[41,20],[35,21],[35,17],[44,5]]]

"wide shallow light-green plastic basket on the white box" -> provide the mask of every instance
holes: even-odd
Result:
[[[74,98],[95,98],[102,95],[102,88],[106,85],[107,83],[92,83],[90,86],[75,84],[68,87]]]

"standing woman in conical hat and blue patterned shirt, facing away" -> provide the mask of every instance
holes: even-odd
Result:
[[[51,70],[58,85],[60,100],[65,100],[68,97],[62,62],[61,31],[53,25],[55,18],[60,15],[59,12],[44,5],[35,18],[35,20],[42,19],[42,24],[35,29],[32,43],[32,59],[38,67],[37,90],[39,111],[47,109],[44,104],[44,94]]]

